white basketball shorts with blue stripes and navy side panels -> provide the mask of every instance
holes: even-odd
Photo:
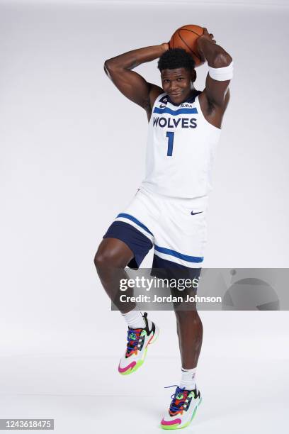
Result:
[[[103,238],[118,238],[130,247],[135,257],[128,267],[133,269],[140,267],[152,247],[153,269],[200,269],[207,239],[207,208],[208,196],[171,198],[141,186]]]

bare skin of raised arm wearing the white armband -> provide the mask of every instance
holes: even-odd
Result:
[[[223,68],[228,67],[232,62],[232,57],[216,44],[213,39],[214,35],[208,33],[208,30],[204,29],[204,34],[198,38],[198,50],[203,60],[207,60],[209,67]],[[203,95],[208,100],[208,104],[215,106],[222,112],[225,111],[229,101],[229,79],[220,81],[219,79],[213,79],[208,73],[205,89]]]

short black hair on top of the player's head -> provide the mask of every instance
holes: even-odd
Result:
[[[189,71],[195,69],[196,63],[193,57],[183,48],[170,48],[166,50],[157,62],[160,72],[163,69],[186,68]]]

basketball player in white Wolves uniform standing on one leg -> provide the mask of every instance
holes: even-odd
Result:
[[[104,66],[119,91],[145,109],[149,121],[145,179],[108,228],[95,257],[101,283],[128,325],[120,374],[132,374],[142,365],[148,344],[159,333],[135,304],[121,306],[116,301],[120,279],[128,278],[125,267],[140,267],[153,246],[153,268],[176,267],[193,275],[203,262],[212,159],[229,102],[233,62],[206,29],[198,38],[198,50],[209,68],[203,91],[193,85],[193,57],[183,49],[169,49],[168,43],[125,52],[106,60]],[[162,87],[133,71],[157,58]],[[201,401],[196,367],[203,325],[196,310],[175,313],[181,379],[162,418],[164,429],[187,426]]]

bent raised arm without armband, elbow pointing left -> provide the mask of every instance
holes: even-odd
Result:
[[[148,83],[144,77],[132,69],[142,63],[157,59],[168,49],[169,44],[167,43],[153,45],[152,47],[125,52],[104,62],[104,70],[113,84],[130,101],[145,109],[148,117],[151,114],[155,99],[159,94],[162,94],[163,89]]]

